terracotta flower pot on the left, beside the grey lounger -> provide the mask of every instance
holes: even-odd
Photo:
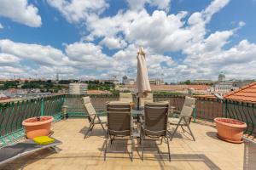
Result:
[[[33,139],[38,136],[47,136],[53,120],[53,116],[40,116],[40,119],[32,117],[24,120],[22,125],[26,129],[26,138]]]

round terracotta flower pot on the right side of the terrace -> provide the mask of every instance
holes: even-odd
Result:
[[[241,143],[243,130],[247,127],[245,122],[236,119],[217,117],[214,119],[216,123],[218,138],[231,143]]]

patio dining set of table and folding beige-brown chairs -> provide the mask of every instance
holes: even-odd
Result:
[[[187,127],[189,129],[188,133],[195,141],[195,137],[189,127],[191,115],[195,108],[195,98],[186,97],[182,111],[178,112],[179,117],[173,118],[169,116],[170,110],[173,110],[169,102],[154,102],[153,95],[150,95],[152,99],[143,99],[140,109],[133,110],[131,93],[121,93],[119,101],[106,103],[107,116],[97,114],[90,102],[90,97],[83,98],[84,109],[88,113],[88,121],[90,122],[90,126],[84,134],[84,139],[89,137],[88,135],[95,125],[98,124],[102,127],[106,137],[104,160],[106,160],[106,155],[109,153],[108,143],[113,144],[114,140],[131,140],[131,152],[128,152],[129,155],[131,154],[131,161],[133,159],[132,150],[135,138],[138,138],[138,143],[142,149],[142,160],[145,140],[160,140],[160,144],[164,140],[168,148],[169,161],[171,161],[169,139],[172,141],[178,127],[181,127],[183,132],[187,132],[184,129],[184,127]],[[174,112],[177,113],[177,111]],[[134,116],[138,116],[137,119],[134,119]],[[134,126],[135,124],[137,126]],[[107,129],[105,129],[104,125],[106,125]],[[176,126],[173,132],[169,128],[171,125]]]

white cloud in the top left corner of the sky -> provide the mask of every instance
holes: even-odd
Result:
[[[31,27],[42,25],[38,8],[28,4],[27,0],[1,0],[0,16]]]

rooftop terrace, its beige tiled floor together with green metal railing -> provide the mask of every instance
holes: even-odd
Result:
[[[141,160],[140,145],[134,150],[134,161],[128,154],[108,154],[103,160],[105,139],[100,127],[96,127],[90,137],[84,139],[84,132],[89,126],[84,117],[80,97],[60,95],[44,99],[32,99],[18,103],[2,104],[0,107],[0,125],[2,145],[22,140],[24,130],[21,120],[29,116],[55,116],[53,137],[63,144],[57,154],[52,150],[41,150],[30,156],[5,164],[3,169],[255,169],[256,144],[255,105],[236,101],[220,102],[217,99],[198,98],[191,129],[195,141],[187,133],[178,130],[170,143],[172,161],[158,151],[166,152],[166,144],[155,142],[146,144],[144,161]],[[119,96],[91,96],[96,109],[103,109],[105,102],[117,100]],[[181,109],[183,96],[154,95],[154,100],[169,100],[171,105]],[[69,118],[62,119],[61,105],[68,105]],[[216,137],[212,119],[216,116],[233,117],[247,120],[244,144],[230,144]],[[246,122],[246,121],[245,121]],[[171,127],[172,129],[173,127]],[[130,143],[128,143],[129,145]],[[126,150],[127,142],[114,141],[109,150]],[[128,147],[129,149],[130,147]]]

